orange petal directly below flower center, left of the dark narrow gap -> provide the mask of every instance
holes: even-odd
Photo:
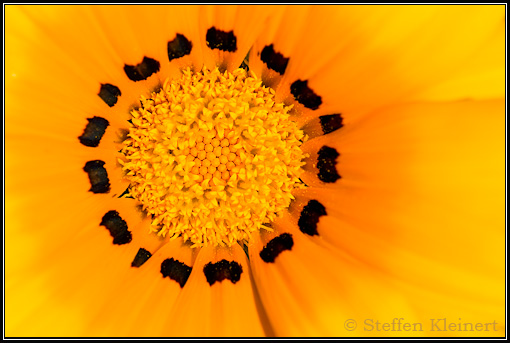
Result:
[[[223,261],[223,262],[222,262]],[[214,279],[207,265],[230,263],[229,278]],[[238,270],[237,268],[241,269]],[[263,336],[263,319],[251,281],[248,259],[238,245],[226,248],[202,248],[183,292],[177,299],[167,325],[173,336]],[[236,274],[237,273],[237,274]],[[207,277],[206,277],[207,274]],[[234,275],[236,274],[236,275]],[[213,277],[212,280],[208,277]],[[211,284],[212,282],[212,284]]]

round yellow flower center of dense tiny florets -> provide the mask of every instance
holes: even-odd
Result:
[[[304,187],[306,137],[244,69],[188,69],[141,104],[119,162],[151,231],[193,246],[247,243]]]

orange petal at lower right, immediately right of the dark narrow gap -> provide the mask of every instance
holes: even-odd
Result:
[[[314,244],[288,215],[274,226],[275,232],[262,234],[249,252],[254,279],[277,336],[379,336],[380,332],[350,330],[349,321],[390,320],[394,314],[415,318],[384,274],[347,254],[335,255]],[[292,236],[292,248],[274,262],[261,259],[267,242],[282,233]]]

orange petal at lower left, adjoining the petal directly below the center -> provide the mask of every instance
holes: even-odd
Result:
[[[147,244],[140,246],[150,249]],[[164,261],[174,259],[192,268],[200,249],[190,249],[189,244],[176,239],[150,250],[154,253],[143,265],[123,268],[126,273],[122,279],[115,280],[116,288],[105,292],[100,311],[85,331],[88,335],[175,336],[167,323],[167,316],[182,287],[176,280],[164,277],[162,265]]]

